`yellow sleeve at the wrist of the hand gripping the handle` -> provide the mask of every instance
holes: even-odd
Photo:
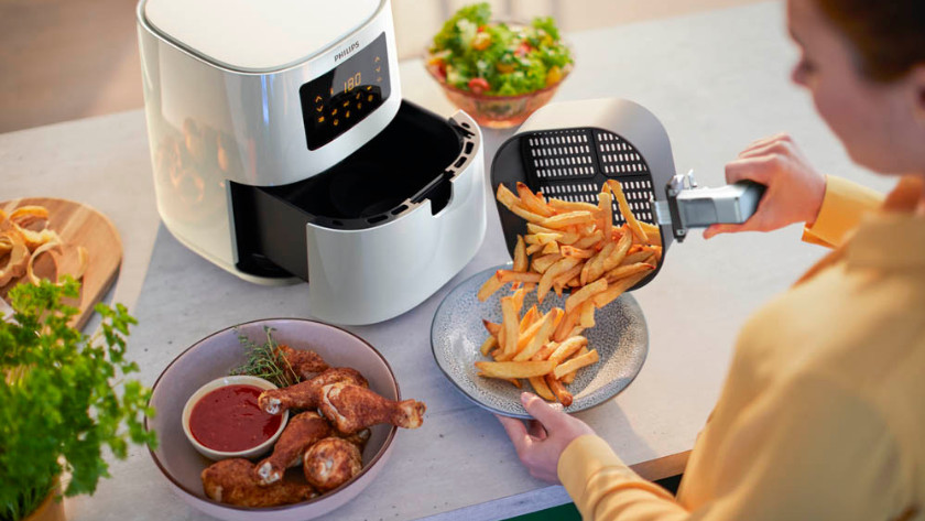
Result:
[[[803,229],[803,240],[835,248],[853,230],[861,217],[883,204],[884,196],[866,186],[833,175],[826,176],[826,195],[813,226]]]

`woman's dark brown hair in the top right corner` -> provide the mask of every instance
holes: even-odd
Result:
[[[851,42],[870,79],[891,82],[925,63],[925,1],[815,1]]]

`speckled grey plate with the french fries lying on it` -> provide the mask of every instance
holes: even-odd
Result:
[[[645,318],[632,295],[624,293],[598,310],[595,325],[580,334],[544,343],[565,317],[565,295],[549,293],[541,303],[535,291],[509,285],[479,300],[486,281],[511,268],[494,267],[466,280],[434,315],[434,358],[463,394],[497,414],[527,419],[523,391],[559,402],[572,413],[599,405],[630,384],[649,349]],[[502,350],[492,356],[498,336],[508,335],[501,332],[514,332],[510,335],[521,347],[516,355]]]

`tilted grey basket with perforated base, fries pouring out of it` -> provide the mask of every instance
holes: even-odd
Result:
[[[546,106],[505,141],[491,165],[491,183],[516,193],[516,183],[533,192],[569,202],[597,204],[607,180],[617,180],[639,220],[656,224],[650,202],[664,199],[675,174],[667,133],[655,117],[627,100],[600,99]],[[526,221],[496,200],[508,250],[513,256]],[[617,202],[614,221],[624,222]],[[660,228],[662,262],[633,289],[649,283],[661,270],[673,239]]]

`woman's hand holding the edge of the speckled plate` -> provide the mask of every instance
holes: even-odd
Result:
[[[536,419],[529,422],[529,427],[515,417],[497,416],[498,421],[514,443],[518,456],[530,475],[557,484],[562,452],[576,437],[595,432],[581,420],[564,413],[562,406],[555,406],[558,404],[551,405],[533,393],[522,393],[521,402],[526,412]]]

